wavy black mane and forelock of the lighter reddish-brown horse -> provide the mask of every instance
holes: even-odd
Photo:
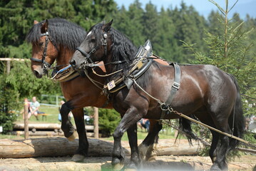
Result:
[[[26,36],[26,41],[36,43],[41,36],[41,26],[45,21],[35,24]],[[56,45],[66,46],[75,51],[86,37],[86,31],[66,19],[48,19],[48,33],[51,41]]]

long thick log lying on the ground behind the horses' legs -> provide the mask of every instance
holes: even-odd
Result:
[[[90,145],[88,151],[89,156],[112,156],[113,141],[89,138],[88,142]],[[186,140],[180,142],[179,147],[175,147],[175,150],[170,150],[173,147],[172,140],[160,140],[159,142],[156,152],[157,155],[187,155],[188,153],[186,151],[188,150],[194,151],[194,154],[198,154],[200,150],[200,147],[196,144],[192,147],[185,145],[188,144]],[[125,154],[129,155],[129,143],[123,141],[122,146]],[[78,140],[70,142],[66,138],[35,138],[29,140],[4,139],[0,141],[0,158],[66,156],[73,155],[77,148]],[[182,152],[178,152],[180,149]],[[192,153],[189,152],[189,154]]]

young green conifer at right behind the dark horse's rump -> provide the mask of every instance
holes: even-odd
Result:
[[[252,44],[247,43],[252,28],[246,30],[243,27],[244,21],[238,16],[227,19],[230,9],[220,10],[222,15],[217,14],[219,24],[216,24],[220,27],[212,28],[213,33],[205,30],[203,40],[208,46],[208,53],[198,52],[193,45],[183,41],[184,46],[195,56],[192,63],[211,64],[234,75],[239,83],[240,93],[244,95],[243,102],[247,100],[252,103],[252,99],[248,97],[255,98],[256,60],[255,54],[251,51]],[[248,105],[249,103],[243,103],[245,115],[255,113],[256,109],[249,108]],[[248,110],[245,110],[246,108]]]

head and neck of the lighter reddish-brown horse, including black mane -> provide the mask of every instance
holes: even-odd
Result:
[[[35,21],[26,40],[32,44],[31,69],[36,77],[45,75],[54,61],[56,71],[68,66],[85,36],[86,31],[81,26],[66,19]]]

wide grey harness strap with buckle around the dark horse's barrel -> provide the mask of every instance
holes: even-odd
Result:
[[[165,118],[165,114],[169,113],[170,111],[168,110],[168,108],[171,108],[170,107],[170,104],[172,103],[173,101],[173,98],[175,97],[175,93],[179,90],[180,88],[180,66],[176,63],[171,63],[170,65],[173,65],[174,67],[174,80],[173,80],[173,85],[172,85],[172,88],[170,90],[170,95],[168,97],[168,99],[166,100],[165,103],[163,103],[163,105],[161,105],[160,107],[162,108],[162,113],[161,113],[161,116],[160,116],[160,120],[159,120],[159,124],[162,124],[163,122],[163,118]]]

